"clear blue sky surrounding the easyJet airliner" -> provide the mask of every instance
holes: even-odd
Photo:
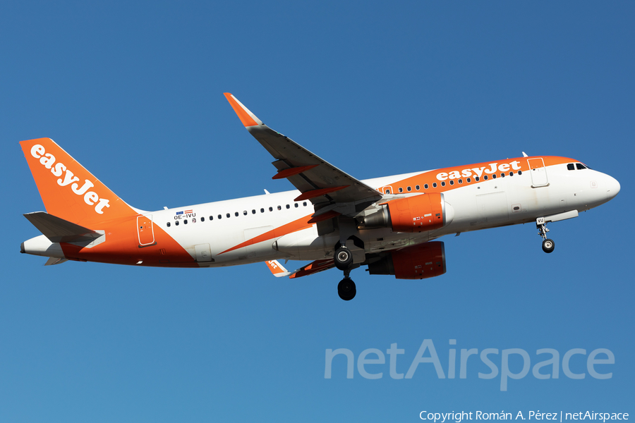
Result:
[[[1,422],[418,421],[422,410],[635,412],[631,196],[635,6],[612,2],[4,2],[0,5]],[[397,281],[264,264],[44,267],[18,253],[43,209],[18,142],[51,137],[141,209],[291,189],[222,96],[357,178],[531,155],[574,157],[622,185],[550,224],[443,239],[447,274]],[[290,267],[292,266],[292,263]],[[560,353],[560,378],[466,379],[325,351]],[[456,339],[456,346],[449,345]],[[612,378],[586,372],[597,348]],[[458,355],[459,353],[457,353]],[[368,358],[375,356],[370,355]],[[472,360],[472,357],[470,360]],[[492,360],[501,367],[501,356]],[[517,360],[516,360],[517,359]],[[386,355],[388,360],[388,355]],[[510,359],[513,372],[519,356]],[[472,367],[472,363],[473,367]],[[544,372],[544,371],[543,371]],[[588,373],[588,372],[586,372]],[[457,370],[458,374],[458,370]]]

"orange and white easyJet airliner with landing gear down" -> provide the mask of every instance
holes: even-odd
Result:
[[[536,223],[552,252],[550,222],[617,195],[619,182],[566,157],[523,157],[358,180],[270,129],[232,94],[239,120],[296,190],[147,212],[132,207],[49,138],[20,142],[47,212],[24,216],[42,233],[20,252],[68,260],[162,267],[265,262],[277,277],[353,269],[422,279],[446,272],[444,235]],[[281,260],[311,261],[287,271]]]

